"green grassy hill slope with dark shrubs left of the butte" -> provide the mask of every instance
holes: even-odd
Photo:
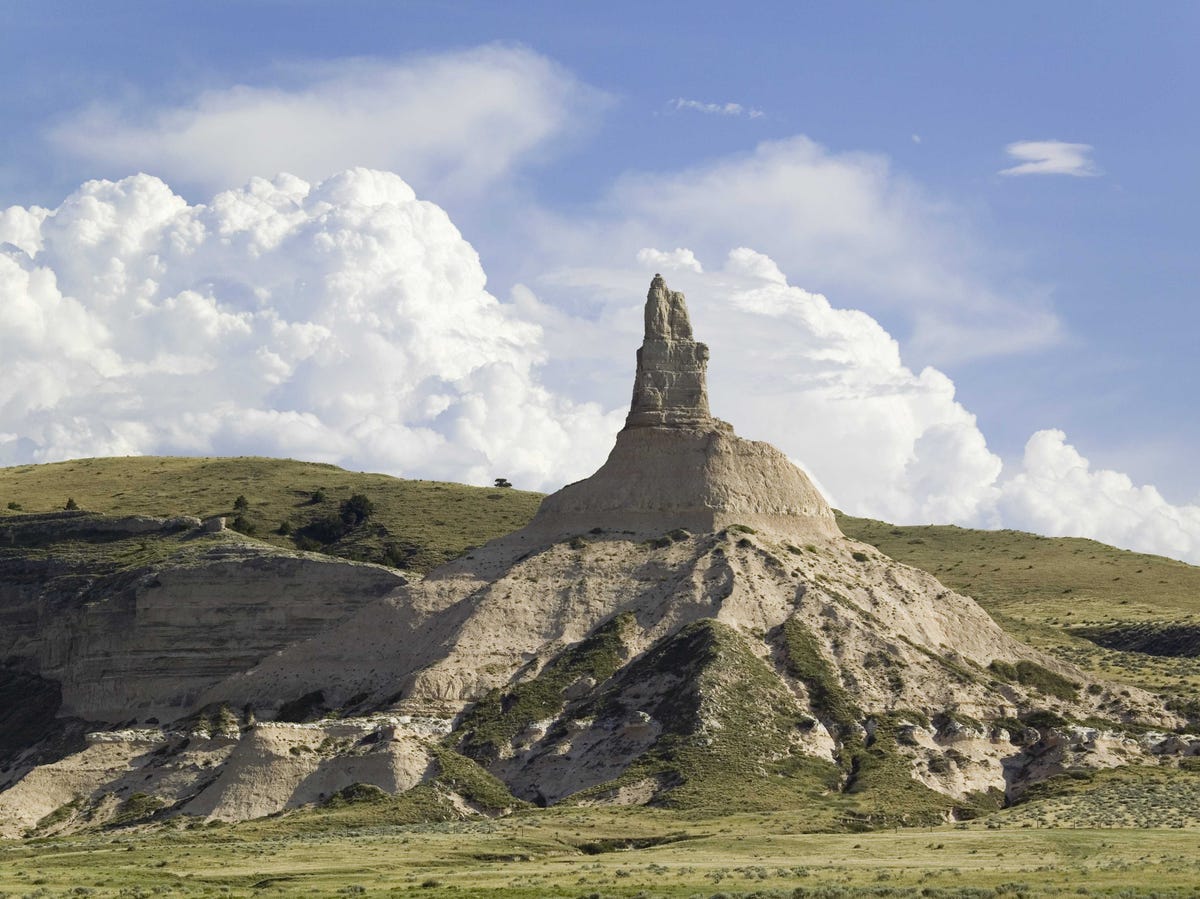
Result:
[[[306,528],[336,517],[358,493],[374,507],[366,522],[332,541],[305,541]],[[245,509],[235,508],[238,497]],[[128,456],[0,468],[0,523],[5,515],[62,509],[68,499],[106,515],[224,515],[230,523],[240,516],[239,529],[277,546],[424,573],[522,527],[541,495],[259,457]]]

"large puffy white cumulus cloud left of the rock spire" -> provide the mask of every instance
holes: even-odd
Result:
[[[0,463],[262,453],[551,487],[619,426],[540,383],[539,326],[392,174],[253,179],[205,205],[90,181],[5,210],[0,244]]]

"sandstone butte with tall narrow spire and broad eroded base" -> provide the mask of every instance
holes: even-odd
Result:
[[[682,294],[655,276],[630,415],[594,475],[547,497],[528,527],[342,621],[298,623],[289,646],[258,647],[187,693],[232,721],[222,736],[180,738],[192,720],[94,736],[54,774],[18,765],[0,780],[0,822],[13,822],[0,835],[68,795],[89,820],[133,789],[157,797],[160,814],[234,819],[360,781],[403,790],[438,777],[448,754],[541,804],[703,804],[716,791],[780,808],[823,790],[877,825],[937,820],[989,791],[1013,797],[1068,765],[1165,751],[1163,735],[1120,733],[1127,720],[1178,723],[1152,697],[1087,689],[970,598],[845,538],[803,472],[712,418],[707,358]],[[312,592],[316,574],[272,562],[245,588]],[[247,603],[223,595],[204,613],[234,640],[222,618],[252,622]],[[288,627],[281,607],[264,610],[272,639]],[[128,690],[95,677],[92,694],[109,697],[100,707]],[[184,694],[172,684],[164,695]],[[311,697],[338,719],[258,723]],[[1052,723],[1067,718],[1112,731],[1064,737]],[[817,787],[793,777],[812,771],[824,772]],[[901,817],[901,795],[925,817]]]

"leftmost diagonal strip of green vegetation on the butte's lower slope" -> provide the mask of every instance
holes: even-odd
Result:
[[[632,616],[618,615],[586,640],[551,660],[536,677],[514,687],[494,689],[463,715],[455,738],[461,751],[484,765],[499,757],[534,721],[558,715],[566,705],[565,690],[580,678],[600,684],[612,677],[625,658],[624,634]]]

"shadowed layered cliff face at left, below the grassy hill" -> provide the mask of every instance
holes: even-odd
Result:
[[[0,661],[58,685],[59,715],[169,720],[199,693],[403,586],[198,521],[5,521]]]

